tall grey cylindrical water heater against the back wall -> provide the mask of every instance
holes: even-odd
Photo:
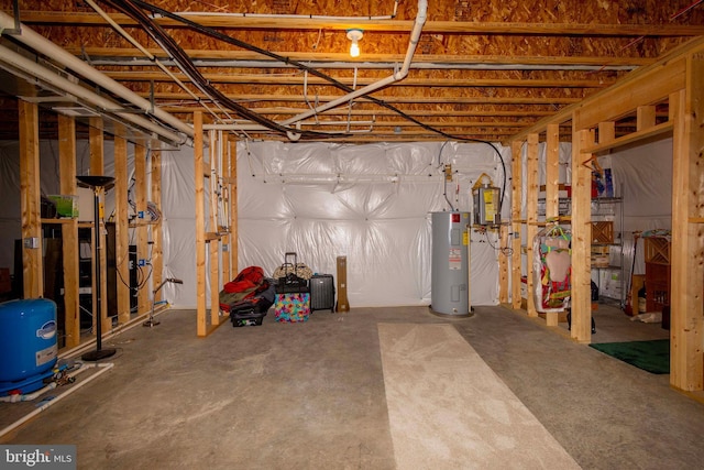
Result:
[[[470,212],[432,212],[430,309],[437,315],[469,317]]]

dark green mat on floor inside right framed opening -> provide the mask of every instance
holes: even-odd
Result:
[[[670,373],[670,340],[602,342],[592,348],[653,374]]]

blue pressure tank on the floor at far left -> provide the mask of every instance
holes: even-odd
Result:
[[[42,387],[42,379],[57,361],[56,330],[53,300],[0,304],[0,394],[29,393]]]

